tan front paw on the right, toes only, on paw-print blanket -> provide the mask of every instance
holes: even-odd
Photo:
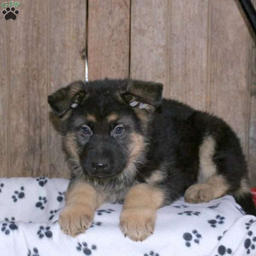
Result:
[[[125,209],[120,216],[122,233],[133,241],[143,241],[153,234],[156,211],[148,208]]]

